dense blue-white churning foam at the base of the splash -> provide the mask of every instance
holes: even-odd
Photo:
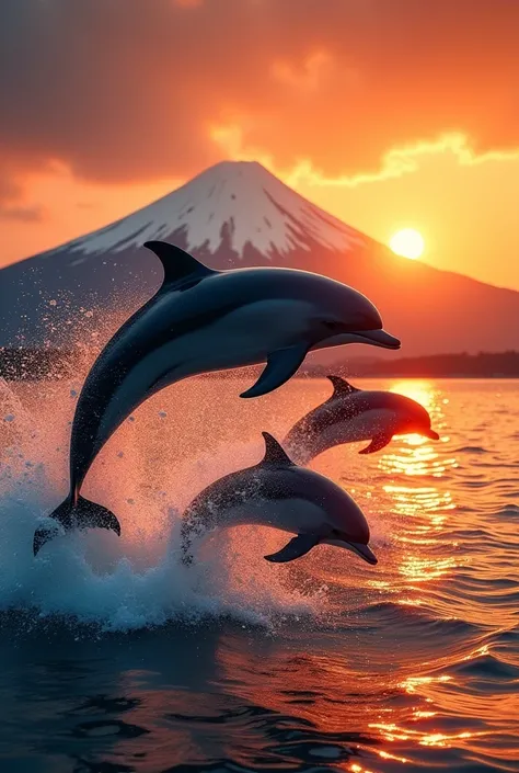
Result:
[[[171,619],[196,623],[207,616],[231,616],[245,624],[275,628],[286,616],[319,616],[319,590],[288,590],[279,572],[231,571],[232,552],[220,550],[184,567],[178,560],[180,516],[165,508],[161,553],[152,566],[138,566],[125,544],[96,530],[69,533],[45,546],[35,559],[32,538],[38,516],[50,510],[50,490],[42,480],[0,500],[0,611],[32,611],[32,616],[60,617],[106,632],[163,626]],[[126,545],[126,548],[128,546]],[[130,553],[136,553],[135,545]],[[137,550],[138,559],[138,550]],[[266,564],[266,562],[265,562]],[[319,603],[318,603],[319,602]]]

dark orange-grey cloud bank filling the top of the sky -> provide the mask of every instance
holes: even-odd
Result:
[[[509,0],[3,0],[0,178],[186,178],[233,147],[355,177],[446,132],[507,149],[518,34]]]

